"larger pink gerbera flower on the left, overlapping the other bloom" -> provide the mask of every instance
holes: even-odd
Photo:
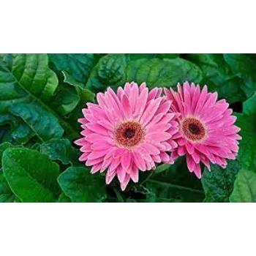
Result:
[[[161,97],[162,89],[148,93],[146,83],[127,83],[118,88],[97,94],[98,104],[87,103],[83,109],[83,138],[76,140],[91,173],[108,168],[106,183],[117,175],[124,190],[132,178],[138,182],[139,170],[151,170],[155,162],[173,163],[166,151],[177,143],[172,136],[178,132],[175,113],[167,113],[171,101]]]

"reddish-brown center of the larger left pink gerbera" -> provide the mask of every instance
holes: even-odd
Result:
[[[126,148],[137,146],[144,136],[141,124],[136,121],[125,121],[119,124],[115,131],[117,146],[124,146]]]

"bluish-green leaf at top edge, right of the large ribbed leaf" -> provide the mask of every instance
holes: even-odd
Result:
[[[67,75],[86,84],[94,66],[94,53],[48,53],[48,56],[59,71],[66,71]]]

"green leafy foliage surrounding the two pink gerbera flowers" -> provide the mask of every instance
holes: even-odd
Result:
[[[0,53],[0,203],[255,203],[255,74],[255,53]],[[238,160],[199,180],[180,157],[125,192],[79,162],[78,118],[97,92],[186,80],[243,104]]]

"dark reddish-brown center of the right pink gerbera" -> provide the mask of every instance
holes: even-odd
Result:
[[[194,117],[187,117],[181,122],[181,130],[187,140],[196,142],[203,140],[206,137],[206,128]]]

